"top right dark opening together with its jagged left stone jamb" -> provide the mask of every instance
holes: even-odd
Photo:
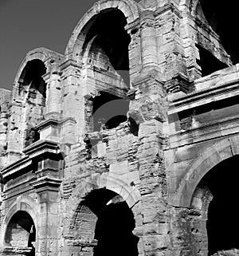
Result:
[[[236,6],[215,0],[179,2],[184,34],[182,41],[190,81],[235,65],[239,61],[238,39],[234,33],[237,15],[231,15],[231,10],[237,10],[233,8]]]

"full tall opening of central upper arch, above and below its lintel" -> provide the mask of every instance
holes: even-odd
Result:
[[[94,73],[96,90],[100,94],[88,100],[92,112],[86,116],[94,115],[98,108],[112,100],[127,98],[130,88],[128,45],[131,37],[124,29],[126,25],[127,19],[119,9],[102,10],[84,26],[78,37],[79,41],[83,41],[81,57],[87,59],[88,68]],[[125,110],[123,115],[113,115],[114,119],[108,122],[108,128],[116,128],[127,120],[129,101],[121,103],[125,104],[121,108]],[[93,131],[99,131],[100,123],[103,122],[105,126],[108,121],[105,115],[97,119],[100,121],[94,121]]]

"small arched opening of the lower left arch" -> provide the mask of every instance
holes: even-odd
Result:
[[[6,227],[5,244],[25,250],[25,255],[35,255],[36,227],[26,211],[18,211]]]

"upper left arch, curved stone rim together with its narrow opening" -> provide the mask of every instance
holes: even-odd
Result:
[[[37,48],[29,51],[22,61],[12,91],[8,150],[22,152],[22,149],[39,140],[37,124],[45,117],[49,76],[61,61],[61,55],[49,49]],[[22,116],[22,118],[19,118]],[[17,131],[18,130],[18,131]],[[15,143],[18,134],[18,144]]]

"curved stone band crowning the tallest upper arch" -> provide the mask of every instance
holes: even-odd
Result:
[[[96,2],[94,6],[86,14],[84,14],[83,18],[80,19],[80,22],[76,25],[75,29],[72,32],[72,36],[69,38],[69,42],[65,49],[65,55],[70,55],[73,52],[73,49],[76,45],[77,37],[80,32],[84,29],[84,26],[96,15],[99,14],[100,11],[118,8],[127,18],[127,23],[134,22],[139,18],[139,4],[133,0],[114,0],[114,1],[105,1],[101,0]]]

